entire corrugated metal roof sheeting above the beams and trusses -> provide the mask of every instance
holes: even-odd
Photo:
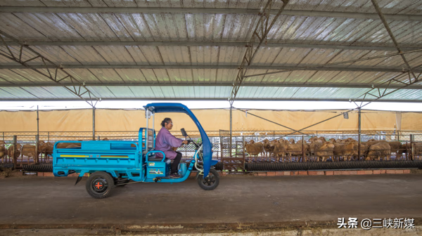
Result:
[[[113,13],[115,7],[154,8],[260,8],[266,1],[8,1],[0,0],[0,6],[48,6],[48,7],[103,7],[107,13],[0,13],[0,29],[19,41],[139,41],[134,45],[64,45],[31,46],[56,65],[89,65],[89,68],[66,68],[80,82],[96,83],[88,86],[94,95],[101,98],[229,98],[231,84],[236,79],[245,46],[145,46],[143,41],[195,41],[195,42],[245,42],[257,23],[257,15],[229,13]],[[273,6],[279,8],[281,1]],[[385,14],[422,15],[422,1],[406,0],[378,1]],[[292,0],[286,10],[326,11],[345,13],[376,13],[370,1],[347,0]],[[271,18],[274,15],[271,15]],[[388,20],[398,43],[406,47],[422,45],[422,22],[418,20]],[[303,15],[281,15],[271,28],[267,43],[262,44],[252,62],[253,66],[265,67],[309,67],[325,63],[340,63],[395,51],[364,50],[362,48],[329,48],[332,46],[392,46],[381,20],[362,18],[333,18]],[[283,44],[324,44],[326,48],[304,48]],[[11,46],[14,55],[20,48]],[[8,53],[4,46],[1,52]],[[411,67],[422,65],[422,52],[408,53]],[[34,57],[34,53],[23,51],[23,60]],[[41,65],[41,60],[32,60],[29,65]],[[46,84],[54,82],[39,74],[54,73],[54,70],[18,69],[18,63],[0,56],[0,84]],[[101,68],[108,65],[112,68]],[[114,65],[123,66],[115,67]],[[124,68],[130,65],[162,65],[157,69]],[[191,69],[166,68],[165,66],[193,66]],[[231,65],[233,69],[219,68]],[[10,69],[6,69],[10,66]],[[195,66],[213,66],[200,68]],[[408,81],[406,69],[399,55],[373,60],[364,60],[331,67],[338,71],[295,70],[279,74],[247,77],[237,98],[277,99],[348,99],[359,96],[368,89],[352,86],[381,84],[389,79]],[[373,72],[345,71],[345,68],[376,68]],[[271,69],[271,70],[269,70]],[[342,70],[343,69],[343,70]],[[383,70],[385,69],[385,70]],[[389,72],[397,69],[397,72]],[[378,71],[379,70],[379,71]],[[272,68],[251,69],[248,74],[274,72]],[[58,78],[65,74],[58,72]],[[70,79],[63,80],[70,83]],[[146,83],[148,86],[139,86]],[[107,84],[103,86],[102,84]],[[111,84],[111,85],[110,85]],[[112,86],[115,84],[114,86]],[[136,84],[133,86],[132,84]],[[150,86],[157,84],[157,86]],[[171,84],[172,86],[160,86]],[[181,86],[183,84],[183,86]],[[206,84],[207,86],[198,86]],[[224,84],[224,86],[219,86]],[[256,86],[250,86],[254,84]],[[271,86],[266,86],[271,84]],[[351,88],[323,88],[315,85],[345,86]],[[393,81],[398,86],[400,83]],[[312,85],[307,87],[307,85]],[[284,87],[283,87],[284,86]],[[422,100],[420,91],[408,89],[392,93],[385,99]],[[84,96],[87,96],[85,94]],[[27,86],[1,87],[0,98],[75,98],[75,95],[60,87]]]

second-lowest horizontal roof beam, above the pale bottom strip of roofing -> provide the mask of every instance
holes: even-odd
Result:
[[[25,83],[25,84],[0,84],[1,87],[60,87],[60,86],[76,86],[77,84],[71,83],[63,83],[63,84],[51,84],[51,83]],[[283,88],[347,88],[347,89],[371,89],[372,84],[283,84],[283,83],[271,83],[271,84],[252,84],[246,83],[242,84],[242,87],[283,87]],[[210,84],[210,83],[200,83],[200,84],[193,84],[193,83],[176,83],[176,84],[153,84],[153,83],[85,83],[87,87],[96,87],[96,86],[155,86],[155,87],[162,87],[162,86],[222,86],[222,87],[231,87],[233,84],[231,83],[222,83],[222,84]],[[378,85],[373,84],[373,86],[378,87],[380,89],[398,89],[401,88],[402,85]],[[413,86],[409,86],[406,89],[422,89],[422,84],[416,84]]]

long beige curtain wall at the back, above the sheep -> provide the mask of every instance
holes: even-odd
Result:
[[[358,129],[358,112],[349,112],[349,119],[343,118],[345,111],[272,111],[249,110],[233,111],[234,131],[288,131],[282,126],[272,124],[255,114],[292,129],[302,129],[324,119],[333,119],[314,125],[308,131],[349,131]],[[229,130],[229,110],[193,110],[205,131]],[[96,109],[96,131],[137,131],[146,126],[143,110],[106,110]],[[174,130],[185,128],[196,130],[190,117],[181,113],[160,113],[155,115],[155,129],[165,117],[172,118]],[[362,111],[363,131],[421,131],[422,112],[381,112]],[[1,111],[0,131],[37,131],[36,111]],[[39,131],[92,131],[92,110],[51,110],[39,111]]]

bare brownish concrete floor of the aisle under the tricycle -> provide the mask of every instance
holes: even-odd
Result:
[[[422,218],[422,175],[224,176],[205,191],[184,183],[135,183],[94,199],[85,179],[0,180],[0,224],[245,223]]]

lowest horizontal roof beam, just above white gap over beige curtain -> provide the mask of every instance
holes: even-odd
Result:
[[[227,101],[227,98],[101,98],[101,100],[224,100]],[[8,99],[2,98],[2,102],[31,102],[31,101],[44,101],[44,102],[57,102],[57,101],[80,101],[78,99],[69,99],[69,98],[56,98],[56,99],[29,99],[29,98],[18,98],[18,99]],[[350,102],[349,99],[311,99],[311,98],[236,98],[236,101],[303,101],[303,102]],[[360,100],[356,100],[360,101]],[[422,103],[422,100],[397,100],[397,99],[384,99],[376,100],[377,103]]]

